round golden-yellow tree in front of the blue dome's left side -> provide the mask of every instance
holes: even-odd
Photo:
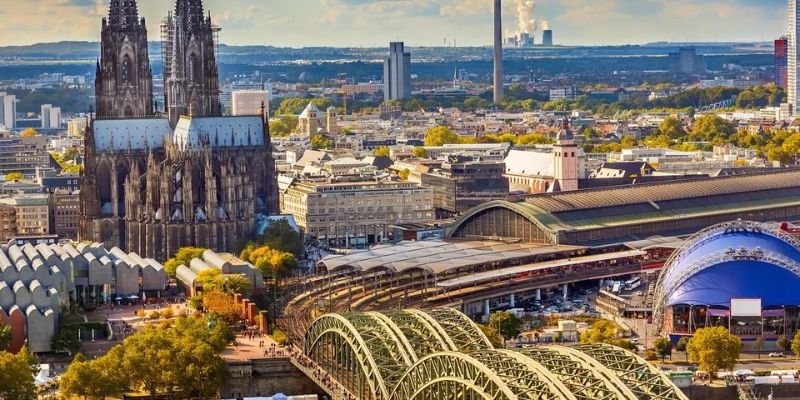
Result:
[[[686,345],[689,361],[712,377],[719,370],[730,370],[742,352],[742,341],[721,326],[700,328]]]

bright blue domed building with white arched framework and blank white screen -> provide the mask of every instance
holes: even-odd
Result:
[[[699,232],[664,266],[654,316],[673,341],[707,326],[743,338],[792,336],[800,322],[800,241],[749,221]]]

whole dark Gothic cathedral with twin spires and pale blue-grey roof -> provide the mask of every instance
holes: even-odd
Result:
[[[153,98],[147,29],[135,0],[111,0],[86,134],[81,240],[165,260],[231,251],[277,212],[266,113],[223,117],[218,28],[202,0],[177,0],[161,27],[164,111]]]

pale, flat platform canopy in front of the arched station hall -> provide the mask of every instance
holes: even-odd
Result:
[[[395,272],[420,269],[439,274],[471,265],[581,249],[584,247],[493,241],[429,240],[375,246],[367,251],[358,251],[343,256],[328,256],[321,263],[329,271],[351,267],[361,271],[387,268]]]

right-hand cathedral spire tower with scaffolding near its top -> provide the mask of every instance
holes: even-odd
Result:
[[[218,116],[219,70],[216,34],[202,0],[177,0],[162,25],[164,97],[170,125],[181,115]]]

